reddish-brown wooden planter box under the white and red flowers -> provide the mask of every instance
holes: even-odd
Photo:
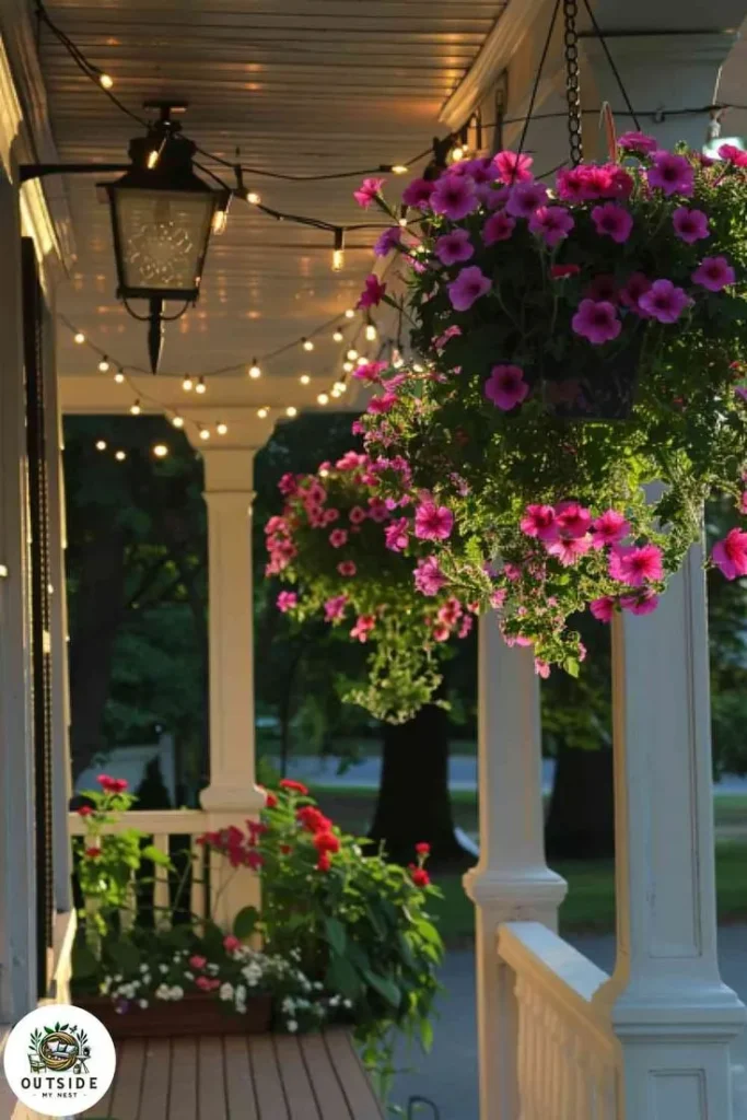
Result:
[[[113,1038],[176,1038],[186,1035],[261,1035],[270,1030],[272,997],[254,996],[246,1014],[228,1010],[216,996],[189,992],[179,1000],[153,1000],[120,1015],[106,996],[73,997],[76,1007],[103,1023]]]

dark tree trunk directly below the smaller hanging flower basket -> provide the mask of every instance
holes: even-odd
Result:
[[[384,726],[382,775],[371,839],[396,864],[415,858],[427,841],[432,859],[465,861],[454,833],[449,797],[448,716],[428,704],[407,724]]]

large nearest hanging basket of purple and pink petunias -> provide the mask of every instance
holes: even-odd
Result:
[[[575,613],[655,608],[711,493],[747,511],[747,156],[721,156],[631,133],[620,162],[562,170],[552,193],[527,156],[463,161],[407,188],[418,237],[380,240],[409,286],[380,298],[422,368],[370,409],[366,448],[408,463],[415,507],[427,492],[451,513],[431,550],[443,589],[499,607],[543,674],[578,672]],[[713,560],[747,575],[747,533]]]

